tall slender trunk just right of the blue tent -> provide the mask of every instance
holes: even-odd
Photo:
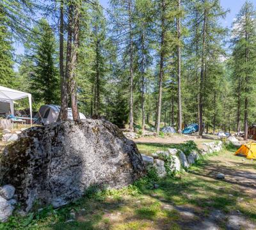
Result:
[[[199,135],[203,135],[203,98],[204,98],[204,68],[205,68],[205,36],[206,36],[207,11],[204,9],[203,43],[202,43],[202,63],[200,75],[200,96],[199,96]]]

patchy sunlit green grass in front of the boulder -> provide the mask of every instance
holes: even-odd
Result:
[[[173,147],[179,145],[138,144],[141,153],[146,154]],[[121,190],[100,192],[92,188],[83,198],[58,210],[47,207],[35,210],[28,217],[15,214],[8,223],[0,224],[0,229],[189,229],[211,218],[214,210],[223,215],[239,212],[246,220],[256,222],[253,190],[246,190],[237,181],[231,183],[211,176],[214,164],[221,169],[228,167],[232,171],[256,174],[255,161],[244,160],[233,153],[229,149],[211,155],[190,167],[188,172],[172,178],[140,180]],[[152,188],[153,183],[159,188]],[[226,222],[227,218],[223,218],[218,226],[225,229]]]

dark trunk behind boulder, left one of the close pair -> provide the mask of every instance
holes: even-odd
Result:
[[[60,1],[60,77],[61,77],[61,107],[60,114],[58,116],[58,121],[66,120],[68,118],[68,79],[64,73],[64,13],[63,13],[64,3],[63,0]],[[68,13],[68,18],[70,18],[70,13]],[[70,26],[70,25],[69,25]],[[70,36],[70,31],[68,32]]]

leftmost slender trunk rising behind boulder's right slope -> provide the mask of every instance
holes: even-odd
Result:
[[[133,44],[132,44],[132,6],[131,0],[128,0],[129,10],[129,43],[130,43],[130,114],[129,114],[129,129],[133,130]]]

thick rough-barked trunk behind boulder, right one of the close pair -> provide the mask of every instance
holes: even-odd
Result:
[[[80,3],[74,3],[74,30],[73,30],[73,42],[72,56],[71,56],[71,69],[70,69],[70,97],[73,119],[79,119],[79,112],[77,108],[77,86],[76,86],[76,63],[77,63],[77,50],[79,47],[79,11]]]

